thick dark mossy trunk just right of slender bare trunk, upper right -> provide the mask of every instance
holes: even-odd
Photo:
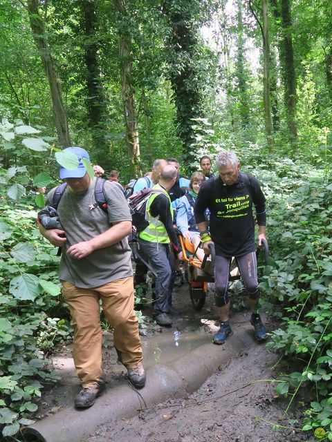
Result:
[[[296,75],[294,64],[293,38],[292,38],[292,19],[291,19],[291,0],[281,0],[282,6],[282,42],[281,42],[281,61],[282,77],[285,88],[285,105],[287,109],[288,129],[293,136],[294,142],[297,139],[296,124]]]

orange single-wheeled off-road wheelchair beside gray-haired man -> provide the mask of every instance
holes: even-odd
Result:
[[[201,262],[196,257],[196,250],[194,245],[179,235],[181,248],[183,251],[183,260],[185,262],[185,278],[189,283],[190,299],[192,300],[192,305],[194,309],[201,310],[205,304],[205,299],[208,294],[208,282],[214,282],[214,274],[212,272],[205,271],[207,266],[208,255],[205,255],[203,261]],[[264,260],[268,262],[268,242],[263,240],[264,249]],[[210,269],[214,270],[214,262],[216,258],[216,251],[214,249],[214,244],[210,244],[211,251],[211,262]],[[258,247],[256,251],[257,258],[261,248]],[[237,262],[232,259],[232,264],[230,265],[230,276],[228,281],[231,283],[235,280],[241,279],[241,273],[237,267]]]

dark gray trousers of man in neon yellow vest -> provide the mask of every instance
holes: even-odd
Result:
[[[175,272],[169,257],[169,244],[149,242],[138,239],[140,254],[154,269],[156,278],[156,302],[154,315],[168,313],[172,305],[172,291],[174,287]]]

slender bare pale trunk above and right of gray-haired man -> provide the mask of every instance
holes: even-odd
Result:
[[[271,117],[271,102],[270,102],[270,41],[268,35],[268,3],[267,0],[262,0],[262,16],[263,16],[263,84],[264,84],[264,117],[265,117],[265,132],[268,141],[268,147],[271,153],[275,151],[275,140],[273,138],[273,125]]]

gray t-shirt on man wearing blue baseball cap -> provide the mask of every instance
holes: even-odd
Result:
[[[52,189],[46,204],[52,206]],[[73,193],[67,186],[57,211],[64,231],[66,242],[62,246],[59,279],[71,282],[76,287],[91,289],[107,282],[132,276],[131,250],[127,238],[121,242],[93,251],[89,256],[77,260],[68,256],[66,251],[77,242],[87,241],[107,231],[113,222],[131,221],[128,204],[121,189],[113,182],[104,183],[107,200],[107,214],[95,203],[95,180],[86,193]],[[91,208],[94,204],[94,209]]]

